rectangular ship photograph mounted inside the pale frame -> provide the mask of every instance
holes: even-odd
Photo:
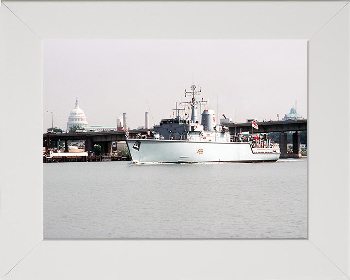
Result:
[[[44,239],[308,238],[307,65],[307,40],[44,40]]]

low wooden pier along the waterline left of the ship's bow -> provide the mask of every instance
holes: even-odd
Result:
[[[73,156],[73,157],[48,157],[44,156],[44,163],[48,162],[88,162],[88,161],[122,161],[131,160],[130,156]]]

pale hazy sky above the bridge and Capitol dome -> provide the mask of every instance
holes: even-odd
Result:
[[[146,111],[158,124],[189,100],[192,79],[220,118],[277,120],[296,100],[307,118],[306,40],[45,40],[44,132],[47,111],[66,130],[76,97],[89,125],[115,126],[126,112],[134,129]]]

